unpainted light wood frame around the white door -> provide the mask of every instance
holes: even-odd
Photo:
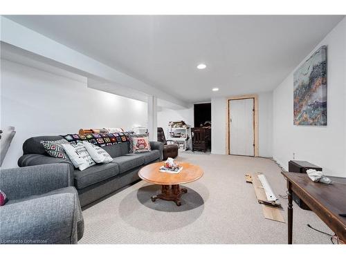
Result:
[[[230,101],[238,99],[253,99],[253,144],[254,156],[258,157],[258,95],[237,95],[226,98],[226,154],[230,155]]]

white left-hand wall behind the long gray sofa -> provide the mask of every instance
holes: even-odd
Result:
[[[146,126],[147,104],[86,87],[86,82],[1,59],[1,127],[17,131],[3,168],[17,166],[22,144],[80,128]]]

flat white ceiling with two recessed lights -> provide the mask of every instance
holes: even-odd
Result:
[[[6,16],[185,102],[273,90],[343,16]],[[197,64],[205,63],[205,70]],[[218,87],[219,92],[212,92]]]

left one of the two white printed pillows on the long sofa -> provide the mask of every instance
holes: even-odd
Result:
[[[80,171],[83,171],[84,169],[87,169],[95,164],[82,143],[62,144],[62,147],[66,151],[67,155],[69,155],[72,164],[76,168],[80,169]]]

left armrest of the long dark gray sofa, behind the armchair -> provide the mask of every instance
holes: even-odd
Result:
[[[41,154],[27,154],[22,155],[19,157],[18,160],[18,166],[24,167],[24,166],[37,166],[40,164],[69,164],[69,171],[70,171],[70,182],[71,185],[73,185],[73,171],[75,171],[75,167],[73,164],[67,162],[66,160],[62,160],[57,157],[50,157],[48,155],[41,155]]]

